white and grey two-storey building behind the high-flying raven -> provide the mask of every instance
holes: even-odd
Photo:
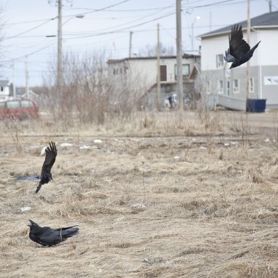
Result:
[[[246,40],[247,22],[238,24],[243,26]],[[226,26],[200,36],[201,68],[208,94],[238,101],[246,99],[246,63],[229,70],[230,65],[224,60],[231,27]],[[278,108],[278,11],[251,19],[250,46],[253,47],[259,41],[261,43],[250,60],[250,99],[267,99],[267,108]]]

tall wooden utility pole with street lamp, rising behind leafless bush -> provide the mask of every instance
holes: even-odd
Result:
[[[62,88],[62,0],[58,0],[57,86],[60,93]]]

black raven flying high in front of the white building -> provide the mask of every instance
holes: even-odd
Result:
[[[231,28],[231,35],[229,35],[229,49],[225,51],[224,59],[231,64],[230,69],[238,67],[246,63],[253,56],[255,49],[258,47],[259,41],[252,49],[250,45],[243,40],[242,26],[234,25]]]

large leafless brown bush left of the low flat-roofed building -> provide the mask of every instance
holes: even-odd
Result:
[[[55,68],[47,80],[56,84]],[[74,115],[81,123],[104,124],[114,117],[128,117],[140,106],[145,84],[139,76],[113,74],[106,55],[67,54],[63,59],[63,86],[49,86],[49,105],[54,119],[72,125]]]

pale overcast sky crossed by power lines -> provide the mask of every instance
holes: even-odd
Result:
[[[0,0],[0,6],[3,22],[0,79],[24,86],[28,56],[29,85],[42,85],[49,62],[57,56],[57,38],[47,38],[57,34],[56,0]],[[247,16],[245,0],[183,0],[182,7],[185,52],[192,50],[192,26],[196,37],[243,21]],[[272,10],[277,8],[278,0],[272,0]],[[129,32],[133,31],[132,53],[136,54],[147,45],[156,44],[158,23],[162,44],[175,49],[175,10],[175,0],[63,0],[63,52],[84,54],[105,49],[111,58],[124,58],[129,55]],[[251,0],[251,17],[268,11],[268,0]],[[195,20],[197,16],[200,18]],[[195,38],[194,49],[199,44],[200,40]]]

